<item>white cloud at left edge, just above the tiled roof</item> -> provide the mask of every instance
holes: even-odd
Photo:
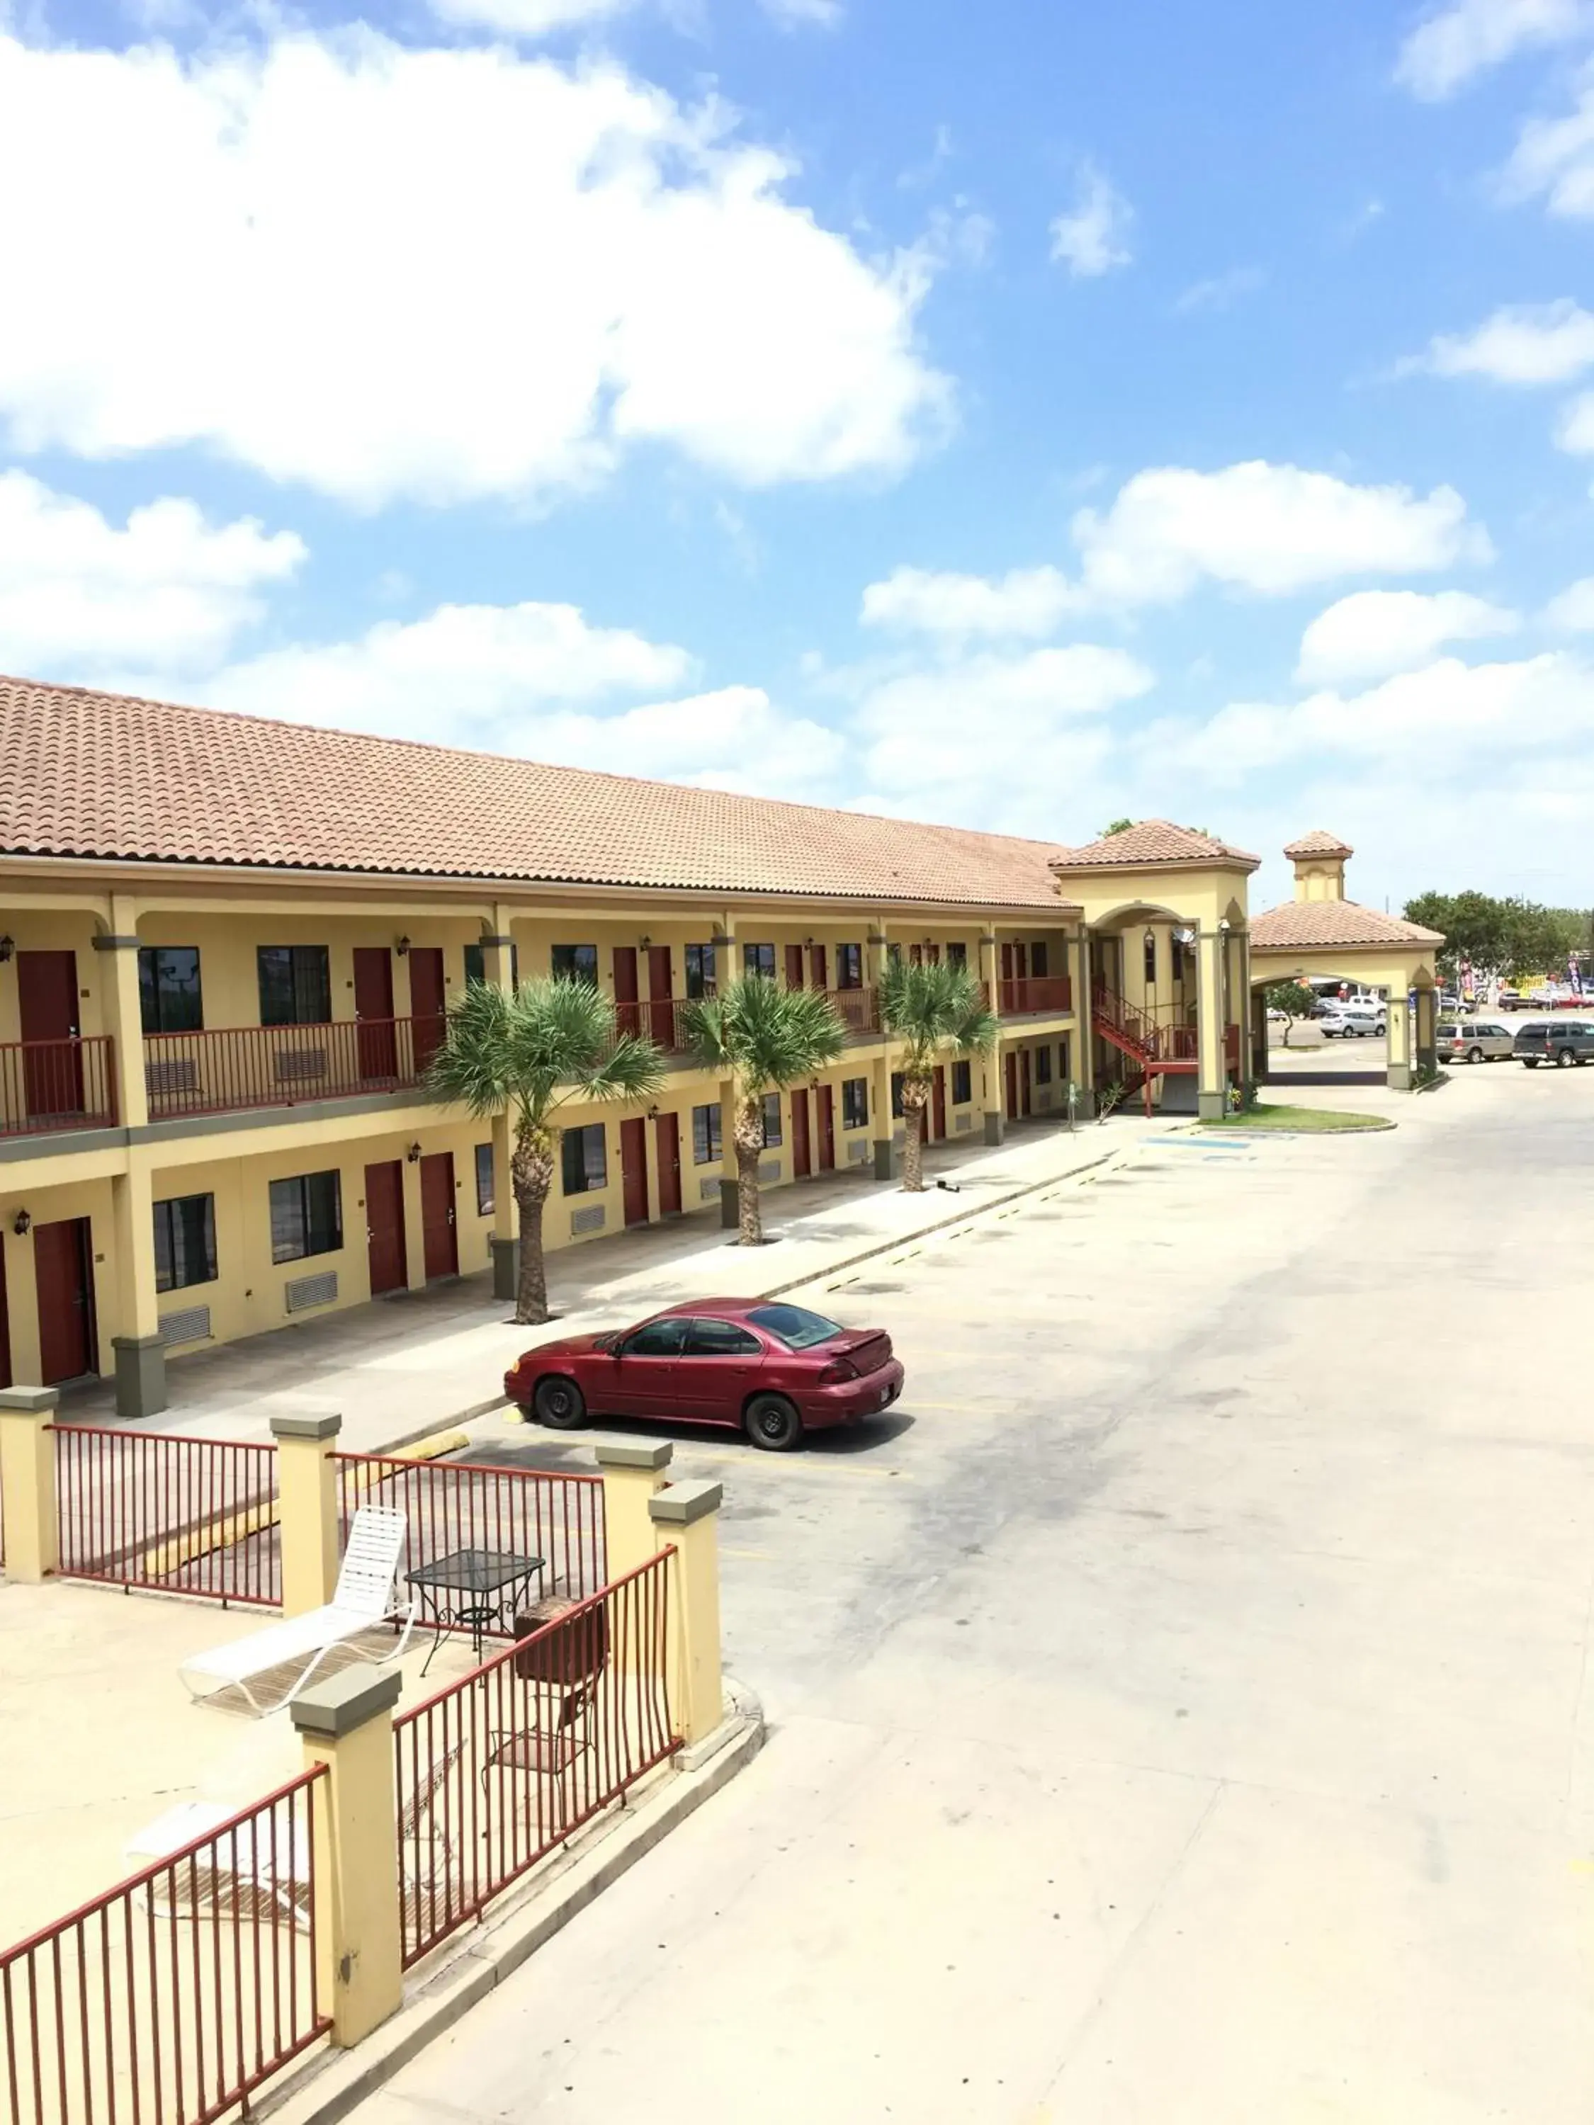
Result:
[[[0,669],[206,667],[302,561],[300,538],[255,518],[210,525],[166,497],[115,527],[26,472],[0,474]]]

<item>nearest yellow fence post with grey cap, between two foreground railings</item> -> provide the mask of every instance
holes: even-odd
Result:
[[[325,1764],[315,1808],[317,1989],[332,2042],[357,2044],[404,2004],[395,1670],[342,1668],[289,1704],[306,1770]]]

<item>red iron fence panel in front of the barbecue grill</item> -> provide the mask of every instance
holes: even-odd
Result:
[[[672,1556],[393,1721],[406,1968],[678,1747]]]

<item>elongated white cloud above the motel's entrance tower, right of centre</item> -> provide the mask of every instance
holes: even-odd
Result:
[[[1452,487],[1413,495],[1262,461],[1137,472],[1109,510],[1075,514],[1073,540],[1086,593],[1124,606],[1184,597],[1203,578],[1284,595],[1337,576],[1428,574],[1490,557]]]

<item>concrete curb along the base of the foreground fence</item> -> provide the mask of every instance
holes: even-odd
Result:
[[[672,1766],[631,1806],[601,1815],[582,1832],[576,1849],[555,1862],[553,1872],[525,1889],[519,1902],[510,1902],[502,1917],[461,1932],[455,1953],[421,1978],[391,2021],[353,2051],[321,2055],[287,2087],[257,2102],[253,2114],[272,2116],[278,2125],[336,2125],[453,2029],[544,1940],[570,1925],[593,1898],[746,1770],[763,1747],[765,1728],[750,1692],[740,1687],[737,1698],[740,1708],[691,1751],[691,1770]],[[508,1898],[514,1891],[506,1891]]]

